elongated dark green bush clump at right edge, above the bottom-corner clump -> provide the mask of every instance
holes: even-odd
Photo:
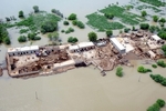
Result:
[[[160,74],[149,74],[149,77],[157,83],[166,87],[166,78],[162,77]]]

